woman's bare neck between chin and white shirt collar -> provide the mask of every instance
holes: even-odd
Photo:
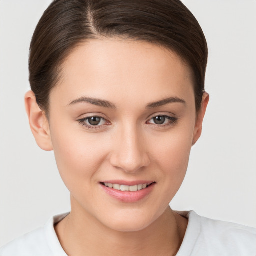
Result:
[[[75,210],[55,230],[68,255],[175,255],[186,226],[187,219],[167,207],[158,219],[139,231],[116,231]]]

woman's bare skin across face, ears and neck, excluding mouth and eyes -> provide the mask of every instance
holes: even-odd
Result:
[[[81,97],[108,101],[112,107]],[[162,101],[169,97],[180,102]],[[36,142],[54,150],[70,191],[71,213],[55,226],[68,255],[178,251],[187,219],[172,211],[169,202],[201,134],[208,99],[204,93],[196,115],[190,69],[174,52],[117,38],[84,42],[71,52],[50,93],[48,119],[34,94],[27,92],[26,110]],[[152,104],[156,101],[162,104]],[[156,124],[153,117],[162,115],[176,119]],[[89,116],[105,120],[88,128],[82,124],[88,124],[84,118]],[[141,200],[122,202],[99,183],[113,179],[155,184]]]

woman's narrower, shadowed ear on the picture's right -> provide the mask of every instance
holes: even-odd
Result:
[[[196,117],[196,121],[195,121],[195,126],[194,126],[194,134],[193,134],[193,142],[192,145],[194,145],[196,143],[196,141],[199,139],[199,137],[201,136],[202,133],[202,121],[203,121],[203,117],[209,102],[209,94],[207,92],[203,93],[202,96],[202,102],[201,102],[201,108],[199,109],[198,113],[197,113],[197,117]]]

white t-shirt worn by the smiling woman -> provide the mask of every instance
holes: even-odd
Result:
[[[255,256],[256,228],[213,220],[194,211],[178,212],[188,225],[177,256]],[[54,230],[54,223],[68,213],[56,215],[41,228],[0,248],[0,256],[67,256]]]

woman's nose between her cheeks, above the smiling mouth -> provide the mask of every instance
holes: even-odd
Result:
[[[133,126],[121,129],[114,138],[110,163],[125,172],[133,173],[149,164],[144,136]]]

